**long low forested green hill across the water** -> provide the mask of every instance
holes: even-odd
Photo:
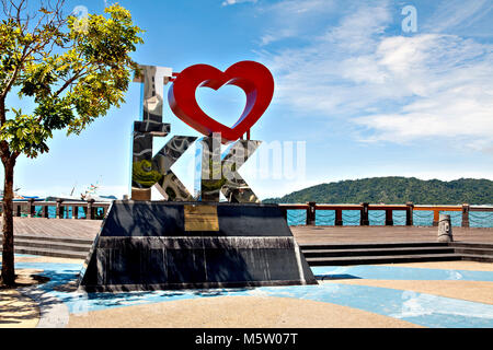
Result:
[[[451,182],[415,177],[371,177],[321,184],[264,203],[386,203],[403,205],[493,205],[493,182],[460,178]]]

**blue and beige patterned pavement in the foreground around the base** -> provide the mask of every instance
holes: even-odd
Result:
[[[16,261],[50,281],[16,294],[24,304],[0,291],[7,327],[493,327],[493,264],[314,267],[318,285],[85,294],[74,291],[80,260]]]

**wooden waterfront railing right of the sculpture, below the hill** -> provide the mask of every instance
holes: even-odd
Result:
[[[316,224],[316,215],[318,210],[334,210],[335,211],[335,222],[336,226],[342,226],[343,222],[343,210],[357,210],[360,212],[360,225],[369,225],[368,211],[369,210],[382,210],[386,212],[386,225],[393,225],[392,213],[394,210],[405,211],[405,225],[413,225],[413,212],[417,210],[433,211],[433,225],[438,225],[438,218],[440,211],[461,211],[462,212],[462,228],[469,228],[469,212],[471,211],[491,211],[493,212],[493,207],[478,207],[465,203],[462,206],[415,206],[411,202],[406,205],[318,205],[313,201],[309,201],[305,205],[279,205],[284,215],[287,220],[288,210],[306,210],[307,211],[307,225]]]

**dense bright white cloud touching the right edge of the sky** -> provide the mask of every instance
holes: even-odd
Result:
[[[475,150],[493,144],[491,45],[439,34],[390,37],[375,62],[388,83],[415,98],[391,113],[356,118],[376,131],[369,140],[455,138]]]

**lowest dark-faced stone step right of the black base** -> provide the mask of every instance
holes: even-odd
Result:
[[[352,257],[307,257],[310,266],[372,265],[420,261],[461,260],[458,254],[423,254],[423,255],[387,255],[387,256],[352,256]]]

